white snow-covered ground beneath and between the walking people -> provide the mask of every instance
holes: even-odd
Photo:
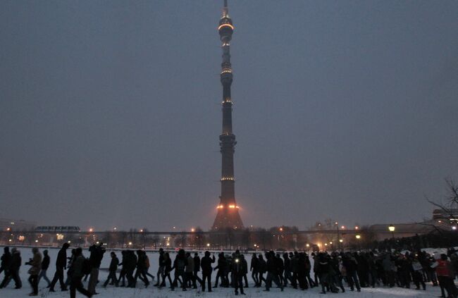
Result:
[[[3,247],[0,248],[0,252],[3,253]],[[19,248],[21,252],[21,256],[23,259],[23,263],[28,261],[28,259],[32,256],[32,249],[30,248]],[[54,276],[54,270],[55,266],[54,263],[56,261],[56,256],[58,249],[48,249],[49,250],[49,256],[51,257],[51,266],[49,266],[47,275],[50,280],[52,280]],[[42,252],[43,249],[40,249],[40,252]],[[68,249],[67,253],[68,256],[70,256],[71,249]],[[157,287],[153,287],[152,284],[144,288],[144,285],[141,280],[137,282],[137,288],[136,289],[131,289],[131,288],[124,288],[124,287],[113,287],[109,285],[106,288],[101,287],[101,283],[104,283],[106,280],[106,277],[108,275],[107,268],[109,267],[109,262],[110,262],[110,256],[109,256],[109,250],[107,250],[106,254],[104,255],[104,259],[102,260],[101,263],[101,269],[99,273],[99,286],[97,287],[97,292],[99,293],[98,295],[95,295],[94,297],[97,298],[191,298],[191,297],[215,297],[215,298],[227,298],[227,297],[233,297],[234,291],[233,289],[230,288],[222,288],[218,287],[216,289],[213,289],[213,292],[208,293],[208,292],[200,292],[200,290],[190,290],[188,289],[187,292],[182,292],[180,288],[175,288],[175,292],[171,292],[171,290],[167,287],[163,287],[161,290],[159,290]],[[85,256],[89,256],[89,252],[87,252],[87,249],[83,252]],[[116,251],[116,254],[119,259],[121,259],[121,255],[119,251]],[[158,268],[158,259],[159,259],[159,254],[156,252],[148,252],[147,253],[149,256],[149,260],[151,263],[151,268],[149,270],[149,273],[156,275],[156,271]],[[200,254],[202,258],[202,254]],[[249,262],[251,260],[251,254],[246,254],[245,255],[248,266]],[[172,260],[175,259],[175,255],[171,254]],[[312,260],[313,261],[313,260]],[[216,265],[215,265],[216,266]],[[214,267],[214,266],[213,266]],[[27,282],[28,274],[27,270],[30,268],[29,266],[23,265],[20,268],[20,278],[23,281],[23,287],[20,290],[15,290],[14,289],[14,282],[11,280],[11,283],[8,285],[7,288],[5,289],[0,289],[0,298],[13,298],[13,297],[28,297],[27,295],[31,292],[31,288],[29,283]],[[202,275],[199,276],[202,277]],[[214,278],[216,274],[213,273],[212,276],[212,285],[214,284]],[[3,273],[1,274],[1,278],[3,279],[4,275]],[[339,293],[339,294],[333,294],[333,293],[328,293],[326,295],[319,294],[321,287],[318,289],[318,287],[314,287],[313,289],[301,291],[301,290],[295,290],[292,289],[291,287],[285,288],[285,292],[280,292],[280,289],[277,289],[276,287],[271,288],[271,292],[263,292],[263,288],[259,287],[253,287],[254,282],[252,281],[251,275],[248,275],[248,281],[249,281],[249,288],[245,290],[245,293],[247,294],[246,297],[284,297],[284,298],[299,298],[299,297],[327,297],[327,296],[333,296],[333,297],[339,297],[339,298],[349,298],[349,297],[360,297],[360,298],[382,298],[382,297],[395,297],[395,298],[405,298],[405,297],[438,297],[440,295],[440,289],[439,287],[432,287],[430,284],[426,285],[426,291],[423,290],[408,290],[404,288],[399,288],[399,287],[393,287],[393,288],[387,288],[387,287],[376,287],[375,289],[372,288],[363,288],[361,289],[361,292],[349,292],[349,289],[345,293]],[[70,293],[69,292],[61,292],[60,287],[58,283],[56,284],[56,292],[49,292],[48,289],[46,288],[47,283],[44,280],[40,280],[39,283],[39,296],[41,297],[52,297],[52,298],[63,298],[63,297],[69,297]],[[347,287],[344,285],[346,290]],[[87,283],[85,283],[85,287],[87,287]],[[77,292],[77,297],[85,297],[82,294]]]

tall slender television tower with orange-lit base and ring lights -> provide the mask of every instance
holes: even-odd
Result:
[[[228,0],[224,0],[223,15],[219,20],[218,32],[222,42],[223,63],[221,63],[221,84],[223,85],[223,132],[219,136],[221,148],[221,197],[220,204],[216,207],[218,214],[213,223],[213,230],[225,228],[243,228],[239,206],[235,203],[234,180],[234,148],[235,135],[233,134],[232,111],[233,101],[230,97],[230,85],[233,82],[233,70],[230,65],[230,39],[232,39],[234,26],[228,14]]]

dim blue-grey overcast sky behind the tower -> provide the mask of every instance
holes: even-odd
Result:
[[[210,228],[221,1],[1,1],[0,217]],[[458,179],[458,1],[229,1],[245,225],[430,217]]]

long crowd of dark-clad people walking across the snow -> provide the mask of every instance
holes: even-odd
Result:
[[[49,292],[55,292],[58,282],[61,291],[70,290],[70,297],[76,291],[87,297],[97,294],[99,268],[106,249],[101,244],[89,247],[89,258],[85,258],[80,247],[72,249],[67,256],[69,245],[63,244],[56,257],[54,278],[49,280],[47,271],[50,258],[47,249],[43,255],[37,247],[32,248],[32,258],[25,262],[30,266],[27,273],[32,287],[30,296],[38,295],[40,280],[47,283]],[[23,285],[19,270],[22,260],[20,251],[4,248],[1,256],[0,273],[4,278],[0,288],[7,287],[11,280],[16,289]],[[213,265],[214,264],[214,265]],[[168,252],[159,249],[159,266],[156,276],[149,273],[149,257],[142,249],[121,251],[121,260],[116,252],[110,253],[109,275],[102,287],[137,287],[141,280],[144,287],[150,280],[156,280],[155,287],[168,286],[173,291],[180,287],[182,291],[200,288],[202,292],[212,291],[212,274],[214,287],[231,287],[235,294],[245,294],[249,287],[247,275],[250,273],[254,284],[252,287],[264,287],[270,291],[273,283],[283,292],[285,287],[307,290],[320,287],[321,294],[326,292],[361,291],[364,287],[414,287],[426,290],[426,284],[440,286],[442,298],[457,298],[458,289],[454,285],[458,273],[458,257],[454,252],[429,255],[426,252],[275,252],[253,253],[249,266],[244,254],[239,250],[233,254],[220,252],[218,257],[210,252],[185,252],[180,249],[172,261]],[[68,270],[67,270],[68,269]],[[120,269],[120,272],[118,273]],[[65,271],[66,275],[65,275]],[[199,273],[202,271],[202,278]],[[89,281],[87,279],[89,278]],[[87,281],[87,289],[83,285]]]

